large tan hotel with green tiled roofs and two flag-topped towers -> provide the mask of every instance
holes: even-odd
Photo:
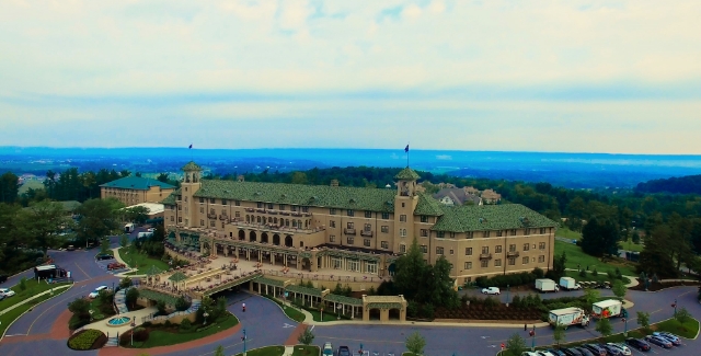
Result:
[[[164,223],[171,241],[200,253],[383,277],[416,239],[458,283],[552,267],[556,222],[518,204],[440,204],[410,168],[397,188],[202,180],[194,162],[183,171],[162,200]]]

